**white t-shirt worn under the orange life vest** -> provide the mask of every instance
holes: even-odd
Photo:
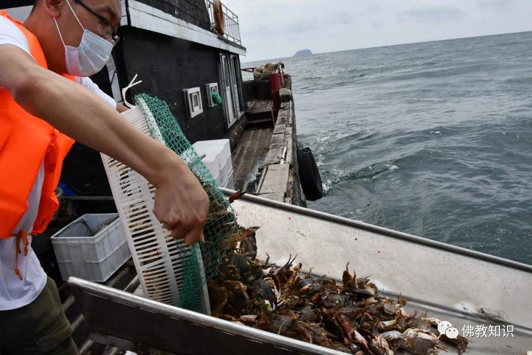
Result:
[[[28,40],[22,31],[11,21],[0,16],[0,45],[6,44],[14,45],[23,49],[28,54],[30,53]],[[1,65],[0,70],[2,70]],[[90,78],[76,79],[79,84],[103,98],[113,108],[117,107],[117,103],[113,98],[105,94]],[[2,88],[2,82],[0,82],[0,88]],[[39,209],[43,181],[44,165],[41,163],[34,186],[28,196],[28,209],[19,222],[19,225],[13,230],[13,234],[20,229],[28,233],[33,229]],[[29,237],[29,242],[28,255],[24,256],[23,245],[21,247],[22,253],[19,254],[18,268],[23,278],[20,280],[14,273],[16,240],[14,237],[0,239],[0,311],[26,306],[37,298],[46,285],[46,274],[40,266],[37,255],[31,249],[31,237]]]

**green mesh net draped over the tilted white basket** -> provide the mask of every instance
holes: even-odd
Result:
[[[143,111],[152,136],[159,136],[165,145],[179,154],[200,180],[209,196],[209,216],[203,231],[205,243],[197,243],[188,247],[182,241],[176,242],[181,247],[180,258],[184,265],[183,285],[180,287],[177,306],[202,312],[204,283],[217,274],[222,255],[230,246],[230,238],[238,228],[236,213],[210,171],[202,163],[200,156],[188,142],[168,105],[146,94],[137,95],[135,102]],[[198,259],[203,260],[203,268],[198,263]]]

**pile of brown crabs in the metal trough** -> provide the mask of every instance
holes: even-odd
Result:
[[[368,277],[351,274],[342,284],[304,274],[290,256],[284,266],[257,260],[255,231],[239,228],[216,278],[208,283],[212,315],[264,331],[355,355],[437,354],[442,341],[467,349],[462,336],[437,335],[439,320],[408,314],[406,300],[379,294]]]

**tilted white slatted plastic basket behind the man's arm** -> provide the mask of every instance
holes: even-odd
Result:
[[[124,112],[123,117],[142,133],[164,144],[147,105],[142,100],[140,105],[142,110],[132,108]],[[143,111],[147,113],[147,117]],[[153,185],[136,171],[109,156],[102,154],[102,160],[144,295],[155,301],[178,306],[179,289],[184,282],[183,265],[188,258],[196,259],[205,279],[201,253],[185,253],[186,244],[173,240],[170,231],[164,229],[156,219],[152,212],[155,194]],[[202,302],[204,313],[210,315],[205,282]]]

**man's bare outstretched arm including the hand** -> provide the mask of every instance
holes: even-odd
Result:
[[[140,133],[96,94],[39,67],[22,49],[0,45],[0,83],[27,112],[143,175],[157,190],[154,214],[175,238],[203,238],[209,199],[187,164]]]

